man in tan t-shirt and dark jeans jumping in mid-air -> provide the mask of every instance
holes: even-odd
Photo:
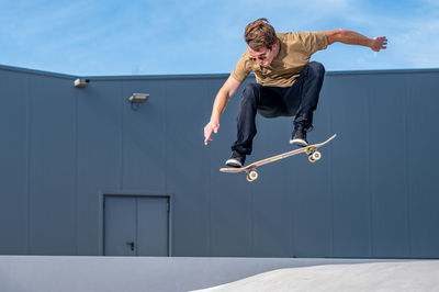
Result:
[[[204,127],[204,144],[212,141],[212,133],[219,128],[219,117],[228,100],[250,72],[257,83],[249,83],[243,91],[238,111],[237,139],[232,145],[229,167],[244,166],[251,154],[256,135],[256,113],[264,117],[295,116],[290,143],[306,146],[306,133],[313,127],[313,112],[325,75],[320,63],[311,56],[336,42],[361,45],[379,52],[386,48],[385,36],[369,38],[357,32],[334,30],[326,32],[297,32],[277,34],[267,19],[249,23],[245,30],[247,52],[216,94],[211,121]]]

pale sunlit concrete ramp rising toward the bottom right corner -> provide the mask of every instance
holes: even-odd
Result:
[[[196,290],[228,291],[439,291],[439,261],[325,265],[279,269]]]

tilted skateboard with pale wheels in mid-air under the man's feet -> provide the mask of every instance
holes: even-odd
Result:
[[[318,144],[313,144],[313,145],[308,145],[299,149],[294,149],[288,153],[283,153],[283,154],[279,154],[256,162],[252,162],[248,166],[244,166],[244,167],[226,167],[226,168],[219,168],[219,171],[222,172],[228,172],[228,173],[237,173],[237,172],[243,172],[246,171],[247,172],[247,180],[248,181],[254,181],[258,178],[258,172],[256,171],[257,167],[270,164],[270,162],[274,162],[277,160],[280,160],[282,158],[286,158],[296,154],[301,154],[301,153],[305,153],[308,156],[308,160],[309,162],[315,162],[317,160],[319,160],[322,158],[322,154],[319,151],[317,151],[318,148],[320,148],[322,146],[328,144],[331,139],[334,139],[335,137],[337,137],[337,134],[334,134],[330,138],[328,138],[325,142],[318,143]]]

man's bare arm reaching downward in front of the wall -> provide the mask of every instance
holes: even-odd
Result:
[[[215,101],[212,108],[211,121],[204,127],[204,144],[207,145],[212,141],[212,133],[218,133],[219,130],[219,117],[226,109],[228,100],[238,90],[240,82],[232,76],[225,81],[223,87],[216,94]]]

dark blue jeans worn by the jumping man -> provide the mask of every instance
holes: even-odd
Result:
[[[294,126],[305,130],[313,126],[313,112],[317,109],[325,67],[317,61],[308,63],[292,87],[264,87],[248,83],[240,99],[237,141],[232,150],[250,155],[257,133],[256,113],[264,117],[295,116]]]

